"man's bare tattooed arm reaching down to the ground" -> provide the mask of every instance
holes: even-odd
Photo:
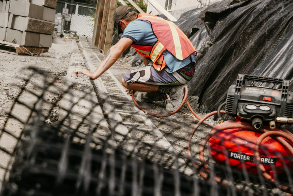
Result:
[[[122,55],[122,53],[126,50],[130,44],[132,44],[132,39],[127,37],[122,37],[118,43],[116,43],[114,46],[112,46],[107,54],[105,55],[104,60],[100,63],[96,71],[91,72],[87,69],[83,68],[76,68],[74,71],[75,75],[77,76],[78,72],[83,73],[84,75],[88,75],[92,80],[97,79],[107,71],[116,61],[117,59]]]

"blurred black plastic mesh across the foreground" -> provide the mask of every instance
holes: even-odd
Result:
[[[262,161],[274,181],[265,178],[255,163],[249,165],[245,153],[235,153],[238,162],[232,164],[227,157],[235,155],[229,144],[241,140],[234,146],[248,152],[254,143],[231,132],[209,135],[207,145],[202,143],[205,134],[196,133],[188,157],[189,133],[182,130],[188,127],[191,132],[191,125],[183,115],[150,127],[147,119],[156,118],[144,119],[126,100],[113,104],[106,95],[97,100],[91,91],[61,88],[53,76],[30,71],[1,127],[1,195],[283,195],[293,189],[290,149],[279,153],[261,147],[260,152],[282,163]],[[56,97],[54,101],[47,100],[49,94]],[[126,108],[131,115],[123,113]],[[19,110],[27,111],[25,118]],[[19,134],[11,132],[11,120],[23,125]],[[164,130],[167,125],[171,131]]]

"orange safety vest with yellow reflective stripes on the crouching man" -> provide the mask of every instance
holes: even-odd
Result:
[[[162,55],[165,50],[168,50],[180,61],[189,57],[192,53],[196,55],[196,50],[188,37],[173,22],[151,14],[138,14],[137,20],[149,21],[158,41],[154,46],[136,44],[131,46],[142,56],[151,58],[157,71],[161,71],[166,66]]]

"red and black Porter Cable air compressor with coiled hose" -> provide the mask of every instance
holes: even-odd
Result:
[[[257,86],[260,83],[271,86]],[[236,120],[219,118],[220,124],[207,138],[209,153],[217,163],[253,174],[262,165],[272,178],[273,173],[292,170],[293,134],[278,128],[278,123],[293,123],[293,93],[288,86],[288,80],[238,75],[236,85],[228,90],[225,109]]]

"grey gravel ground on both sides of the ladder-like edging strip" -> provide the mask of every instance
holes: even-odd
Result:
[[[97,53],[97,55],[103,59],[103,55],[98,52],[97,49],[93,48],[93,50]],[[68,74],[68,62],[70,57],[71,51],[71,39],[63,39],[63,38],[56,38],[53,41],[52,48],[49,49],[51,53],[61,53],[62,59],[56,59],[52,57],[39,57],[39,56],[16,56],[13,54],[7,53],[0,53],[0,128],[3,128],[4,123],[7,120],[6,127],[9,127],[9,130],[13,135],[17,137],[20,136],[21,131],[23,130],[23,125],[18,122],[17,120],[13,120],[12,118],[7,119],[6,113],[11,110],[13,106],[13,100],[18,96],[20,92],[20,87],[24,85],[24,80],[30,77],[32,71],[27,70],[28,67],[35,67],[42,71],[46,71],[49,73],[48,81],[52,80],[53,77],[57,78],[55,86],[58,88],[54,90],[54,93],[45,93],[45,100],[49,101],[51,104],[55,104],[56,107],[54,110],[51,111],[51,117],[48,119],[47,123],[54,123],[54,121],[58,120],[59,117],[59,103],[60,98],[58,93],[62,93],[62,89],[64,90],[64,82],[65,77]],[[120,58],[117,62],[120,65],[129,67],[129,68],[136,68],[131,67],[131,60],[133,57],[128,58]],[[123,74],[128,69],[122,67],[115,63],[111,68],[110,71],[114,74],[114,76],[121,81]],[[35,93],[38,92],[40,89],[36,88],[34,85],[41,85],[42,78],[39,75],[34,75],[31,78],[32,83],[26,85],[28,90],[31,90]],[[74,89],[80,90],[82,87],[88,86],[88,78],[79,76],[76,79],[78,83],[74,85]],[[81,81],[80,81],[81,79]],[[84,83],[83,83],[84,81]],[[28,105],[32,105],[37,98],[31,94],[22,95],[21,100]],[[197,97],[191,96],[189,97],[189,102],[195,112],[197,110]],[[167,113],[165,107],[159,105],[159,103],[140,103],[144,108],[150,110],[153,113],[164,114]],[[19,104],[15,104],[15,108],[12,110],[13,114],[18,116],[21,120],[26,121],[28,119],[28,115],[30,114],[27,108],[20,106]],[[42,105],[44,110],[49,110],[49,105]],[[181,109],[182,111],[191,114],[189,109],[186,105],[183,106]],[[202,117],[205,114],[199,113]],[[122,117],[124,118],[124,117]],[[125,117],[128,118],[128,117]],[[170,117],[166,118],[156,118],[149,116],[149,118],[153,121],[154,125],[156,125],[159,130],[163,133],[166,139],[171,143],[173,148],[176,150],[177,153],[186,156],[186,140],[188,135],[190,134],[191,130],[193,129],[195,122],[194,119],[183,114],[183,113],[176,113]],[[131,119],[129,119],[131,120]],[[215,124],[212,118],[208,119],[207,122],[211,124]],[[210,127],[208,126],[201,126],[193,137],[193,142],[198,145],[193,145],[193,152],[198,152],[199,144],[201,140],[205,137],[205,135],[210,131]],[[135,134],[135,133],[134,133]],[[12,153],[17,139],[9,136],[8,134],[3,134],[0,138],[0,147],[6,149],[9,153]],[[11,167],[8,165],[8,160],[10,156],[3,151],[0,151],[0,165],[3,167]],[[4,169],[0,169],[0,181],[3,179]],[[1,186],[1,185],[0,185]]]

